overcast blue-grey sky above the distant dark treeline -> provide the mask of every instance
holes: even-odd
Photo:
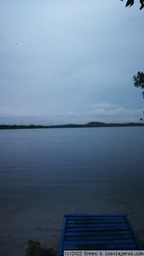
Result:
[[[140,122],[144,10],[120,0],[0,0],[0,124]]]

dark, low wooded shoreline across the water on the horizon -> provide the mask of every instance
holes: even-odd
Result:
[[[103,123],[103,122],[89,122],[85,125],[0,125],[0,130],[6,129],[37,129],[37,128],[91,128],[91,127],[127,127],[127,126],[144,126],[144,123]]]

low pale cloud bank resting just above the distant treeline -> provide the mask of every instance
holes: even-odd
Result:
[[[95,109],[74,113],[58,112],[54,115],[3,115],[0,114],[0,123],[12,125],[62,125],[62,124],[85,124],[91,122],[106,122],[106,123],[127,123],[139,122],[138,116],[141,116],[142,109],[126,109],[110,104],[96,105]],[[113,121],[114,120],[114,121]]]

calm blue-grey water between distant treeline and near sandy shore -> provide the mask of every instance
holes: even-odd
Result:
[[[1,130],[0,197],[47,198],[49,189],[72,204],[142,201],[144,128]]]

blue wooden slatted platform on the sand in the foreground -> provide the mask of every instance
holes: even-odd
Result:
[[[64,250],[144,250],[127,215],[66,214],[58,256]]]

